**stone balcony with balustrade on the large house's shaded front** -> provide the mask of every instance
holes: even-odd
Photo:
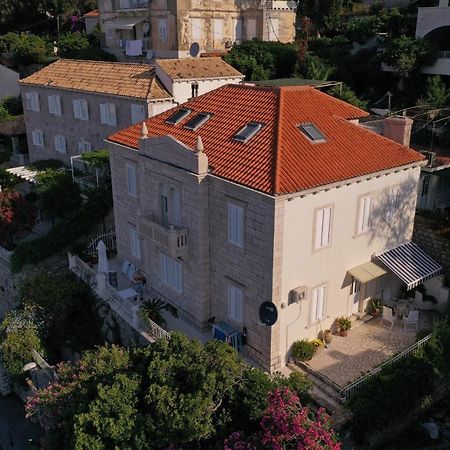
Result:
[[[188,256],[188,228],[175,228],[173,225],[166,228],[157,223],[153,216],[141,216],[139,233],[166,250],[172,258]]]

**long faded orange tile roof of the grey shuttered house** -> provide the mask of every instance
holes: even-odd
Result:
[[[59,59],[19,83],[141,99],[172,97],[148,64]]]

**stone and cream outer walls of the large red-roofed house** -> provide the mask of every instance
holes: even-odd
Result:
[[[295,340],[317,337],[336,317],[364,313],[373,296],[395,296],[401,283],[393,275],[361,286],[351,296],[348,270],[366,263],[374,253],[411,239],[419,165],[347,180],[310,192],[271,196],[226,181],[208,170],[206,155],[171,137],[140,140],[139,151],[109,143],[113,177],[118,253],[146,274],[149,287],[179,315],[199,329],[208,322],[226,321],[247,331],[243,351],[267,370],[285,364]],[[200,146],[201,149],[201,146]],[[136,167],[137,195],[128,194],[127,164]],[[161,193],[180,193],[181,221],[170,231],[161,227]],[[396,189],[395,210],[391,190]],[[371,227],[356,231],[361,198],[370,194]],[[229,204],[244,210],[244,242],[229,239]],[[315,250],[317,209],[333,206],[331,243]],[[148,219],[150,217],[150,219]],[[139,228],[143,218],[158,233],[188,229],[188,251],[182,266],[182,290],[162,281],[160,237]],[[130,225],[140,230],[141,257],[132,254]],[[161,231],[162,230],[162,231]],[[150,237],[149,237],[150,236]],[[306,286],[306,297],[290,302],[292,290]],[[326,286],[323,320],[311,322],[311,298],[317,286]],[[243,291],[240,320],[230,313],[229,289]],[[259,308],[273,302],[278,320],[272,327],[260,323]]]

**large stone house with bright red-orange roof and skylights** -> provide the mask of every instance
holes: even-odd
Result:
[[[424,162],[365,115],[311,87],[230,85],[111,135],[119,257],[184,321],[226,322],[279,369],[294,341],[439,272],[420,250],[412,281],[390,253],[372,261],[408,258]]]

